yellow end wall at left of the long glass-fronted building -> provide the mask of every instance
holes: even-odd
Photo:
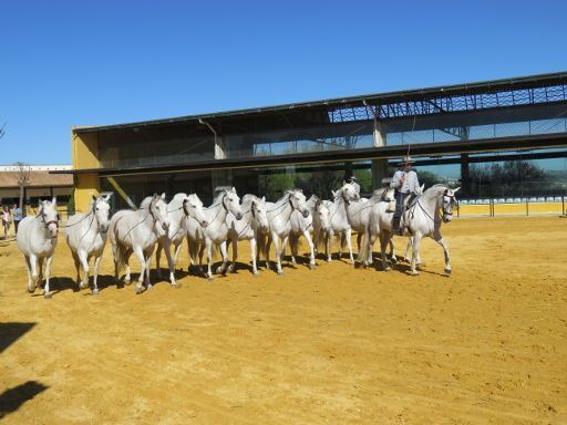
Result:
[[[99,168],[99,136],[96,133],[76,134],[71,131],[73,168]],[[78,174],[75,178],[75,210],[89,209],[92,196],[101,190],[97,173]]]

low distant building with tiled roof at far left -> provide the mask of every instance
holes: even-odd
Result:
[[[24,188],[23,198],[29,205],[39,199],[58,197],[58,201],[66,204],[73,190],[73,176],[69,174],[51,174],[50,172],[69,172],[70,165],[30,165],[29,184]],[[0,166],[0,204],[13,205],[20,201],[19,167],[16,165]]]

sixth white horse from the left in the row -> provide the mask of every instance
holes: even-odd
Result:
[[[252,261],[252,273],[259,274],[256,263],[258,257],[257,235],[259,231],[268,231],[268,214],[266,209],[266,198],[258,198],[256,195],[247,194],[243,197],[243,219],[237,220],[229,212],[227,216],[228,240],[227,245],[233,243],[233,262],[228,271],[236,271],[236,260],[238,258],[238,241],[250,241],[250,257]],[[223,272],[224,270],[221,270]]]

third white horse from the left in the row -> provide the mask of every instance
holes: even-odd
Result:
[[[152,289],[150,283],[152,253],[154,252],[157,239],[167,235],[169,227],[167,204],[165,204],[164,199],[165,194],[162,194],[162,196],[154,195],[150,200],[146,198],[142,203],[147,203],[147,208],[141,208],[136,211],[123,209],[112,216],[111,219],[109,232],[114,257],[114,277],[118,280],[122,266],[125,266],[126,277],[124,278],[124,283],[130,284],[128,260],[132,252],[134,252],[142,266],[136,284],[136,293],[142,293],[144,278],[147,289]]]

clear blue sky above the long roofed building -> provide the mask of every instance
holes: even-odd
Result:
[[[564,1],[0,4],[0,164],[70,128],[567,70]]]

